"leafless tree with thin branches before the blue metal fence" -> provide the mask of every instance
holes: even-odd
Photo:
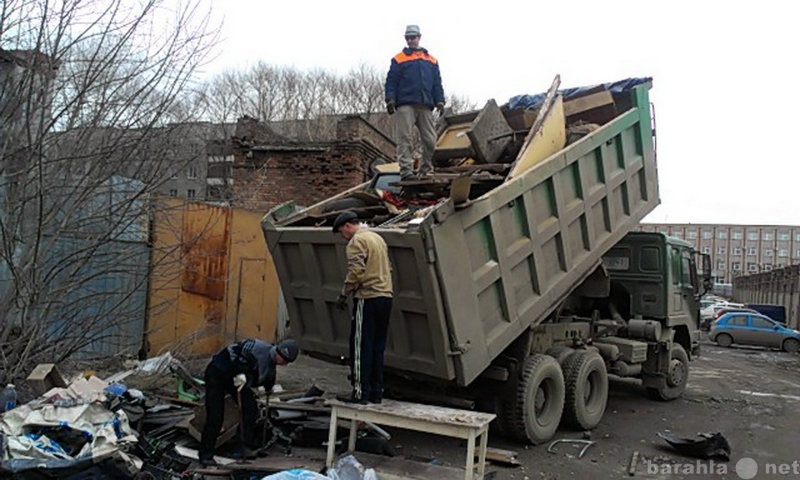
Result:
[[[2,0],[0,381],[136,353],[148,198],[214,40],[197,0]]]

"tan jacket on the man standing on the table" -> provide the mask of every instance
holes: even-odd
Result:
[[[343,295],[356,298],[392,296],[389,249],[380,235],[362,227],[347,243],[347,276]]]

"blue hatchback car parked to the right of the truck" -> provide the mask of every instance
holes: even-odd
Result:
[[[787,328],[760,313],[732,312],[711,324],[709,338],[720,346],[732,344],[800,350],[800,332]]]

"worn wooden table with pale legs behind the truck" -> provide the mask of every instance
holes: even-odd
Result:
[[[478,478],[483,479],[486,469],[486,448],[489,444],[489,423],[494,420],[492,413],[436,407],[419,403],[384,400],[380,404],[360,405],[327,400],[331,407],[331,424],[328,433],[328,457],[325,464],[333,466],[336,430],[339,419],[351,420],[350,438],[347,451],[356,446],[357,421],[373,422],[378,425],[416,430],[419,432],[445,435],[467,440],[467,465],[464,478],[471,480],[475,468],[475,444],[480,439],[478,450]]]

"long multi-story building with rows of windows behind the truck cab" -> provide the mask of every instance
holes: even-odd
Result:
[[[644,232],[681,238],[711,256],[716,283],[800,263],[800,226],[643,223]]]

